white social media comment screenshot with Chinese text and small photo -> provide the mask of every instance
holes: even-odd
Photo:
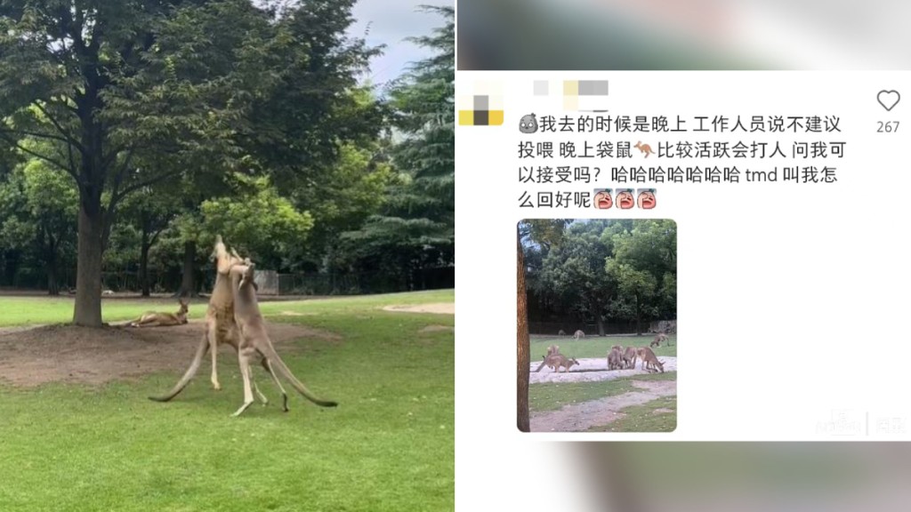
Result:
[[[486,421],[563,440],[911,439],[908,73],[456,82],[465,329],[489,353],[466,359],[465,389]]]

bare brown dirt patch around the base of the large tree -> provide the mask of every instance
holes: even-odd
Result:
[[[160,371],[182,374],[200,341],[205,324],[190,322],[172,327],[127,328],[111,326],[89,329],[74,325],[18,328],[0,333],[0,381],[17,386],[51,382],[104,384]],[[317,338],[338,343],[333,333],[289,323],[269,323],[276,349],[292,353],[292,340]],[[222,355],[224,354],[224,355]],[[230,355],[229,355],[230,354]],[[228,357],[236,364],[230,347],[220,347],[219,361]]]

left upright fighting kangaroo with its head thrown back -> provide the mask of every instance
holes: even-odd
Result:
[[[174,388],[168,394],[163,396],[149,396],[150,400],[156,402],[168,402],[177,396],[183,388],[187,387],[189,381],[200,369],[200,363],[207,352],[212,353],[212,388],[216,391],[221,389],[218,377],[218,366],[216,353],[221,344],[229,344],[237,350],[238,333],[237,324],[234,322],[234,294],[230,289],[229,271],[233,265],[238,265],[246,261],[241,260],[237,252],[229,253],[225,244],[218,236],[215,241],[215,249],[212,256],[216,259],[216,277],[215,286],[212,287],[212,295],[209,299],[209,310],[206,312],[206,330],[202,334],[200,344],[197,346],[193,360],[189,364],[187,372],[180,377]]]

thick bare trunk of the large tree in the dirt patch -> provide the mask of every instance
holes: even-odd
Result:
[[[104,215],[100,208],[89,215],[85,200],[79,206],[79,249],[76,271],[76,307],[73,323],[101,327],[101,255]],[[93,201],[94,202],[94,201]]]

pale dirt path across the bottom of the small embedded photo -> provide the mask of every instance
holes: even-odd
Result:
[[[640,391],[609,396],[581,404],[565,405],[558,411],[532,414],[532,432],[580,432],[595,425],[608,425],[623,417],[619,411],[663,396],[677,394],[675,381],[633,381]]]

